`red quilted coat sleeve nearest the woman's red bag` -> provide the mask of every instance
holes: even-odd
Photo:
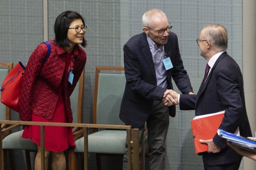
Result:
[[[32,120],[32,93],[36,88],[36,80],[43,66],[43,60],[47,55],[47,45],[40,44],[32,52],[25,73],[22,77],[18,101],[18,111],[22,121]]]

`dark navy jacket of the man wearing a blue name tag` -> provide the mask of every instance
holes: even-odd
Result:
[[[154,100],[162,101],[167,90],[157,86],[155,66],[145,33],[135,35],[124,45],[126,87],[119,118],[127,125],[139,128],[144,125]],[[167,70],[169,89],[173,89],[171,77],[183,94],[192,92],[191,83],[180,57],[177,35],[169,33],[165,52],[173,68]],[[169,107],[169,115],[175,116],[175,106]]]

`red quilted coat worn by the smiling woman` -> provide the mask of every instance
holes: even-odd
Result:
[[[18,110],[22,121],[31,121],[32,114],[51,119],[58,99],[61,78],[65,70],[66,52],[56,45],[55,41],[48,41],[51,45],[50,56],[43,65],[47,56],[47,45],[38,45],[29,58],[28,65],[22,77]],[[64,85],[65,106],[68,119],[73,121],[70,107],[70,95],[83,71],[86,63],[86,53],[76,45],[73,50],[71,67],[73,68],[73,83]],[[43,67],[42,67],[43,66]]]

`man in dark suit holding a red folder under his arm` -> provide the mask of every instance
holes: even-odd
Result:
[[[197,39],[200,55],[208,61],[206,78],[197,95],[178,95],[174,92],[171,95],[179,102],[180,110],[195,110],[196,116],[225,111],[220,129],[252,136],[245,108],[242,73],[226,52],[227,41],[226,28],[219,24],[206,25]],[[164,97],[168,95],[166,93]],[[226,141],[217,133],[213,139],[200,142],[208,145],[208,152],[202,153],[206,170],[238,170],[242,156],[226,147]]]

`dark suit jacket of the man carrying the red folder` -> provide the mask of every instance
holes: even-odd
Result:
[[[239,127],[240,135],[252,136],[246,108],[244,85],[238,64],[224,52],[216,60],[204,86],[199,88],[197,95],[180,95],[180,110],[194,110],[195,115],[210,114],[224,111],[220,129],[234,133]],[[213,142],[220,146],[220,153],[203,153],[209,165],[231,163],[242,158],[217,134]]]

